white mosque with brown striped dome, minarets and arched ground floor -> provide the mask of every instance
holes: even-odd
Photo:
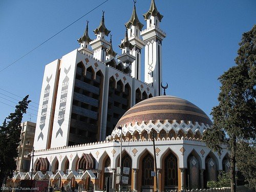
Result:
[[[227,149],[217,154],[202,142],[209,117],[185,99],[162,95],[166,33],[155,1],[148,6],[143,29],[134,3],[121,55],[113,50],[103,12],[95,39],[87,22],[80,48],[46,65],[33,172],[15,173],[14,186],[33,179],[78,191],[183,190],[205,188],[229,170]]]

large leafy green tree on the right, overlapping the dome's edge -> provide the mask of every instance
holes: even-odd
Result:
[[[231,192],[236,191],[238,143],[253,144],[251,141],[256,138],[256,25],[243,34],[239,45],[237,65],[219,77],[219,105],[211,112],[214,124],[203,134],[204,142],[212,150],[221,153],[226,144],[230,151]]]

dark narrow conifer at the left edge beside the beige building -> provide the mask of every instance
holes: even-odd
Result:
[[[0,126],[0,186],[4,179],[12,177],[16,169],[15,158],[18,156],[17,147],[20,141],[23,114],[28,109],[28,95],[18,102],[15,112],[11,113]]]

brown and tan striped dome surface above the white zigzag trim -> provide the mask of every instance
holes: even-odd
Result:
[[[209,117],[195,104],[174,96],[158,96],[145,99],[128,110],[116,126],[149,120],[177,120],[212,125]]]

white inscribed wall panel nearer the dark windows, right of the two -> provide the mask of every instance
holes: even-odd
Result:
[[[68,145],[77,50],[61,59],[51,148]]]

